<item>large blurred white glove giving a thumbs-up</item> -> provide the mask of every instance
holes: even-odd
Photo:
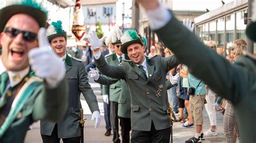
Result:
[[[45,28],[40,28],[38,32],[39,47],[30,50],[29,63],[38,77],[45,78],[49,87],[55,88],[65,77],[65,65],[49,48],[50,44],[45,32]],[[51,61],[50,64],[49,61]]]

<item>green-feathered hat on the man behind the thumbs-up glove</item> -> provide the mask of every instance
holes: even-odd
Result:
[[[64,37],[66,40],[66,32],[62,28],[62,22],[60,20],[52,22],[51,25],[49,25],[46,30],[46,35],[49,42],[56,37]]]

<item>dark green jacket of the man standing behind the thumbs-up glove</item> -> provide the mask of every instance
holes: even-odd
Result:
[[[95,94],[91,89],[87,78],[87,72],[84,64],[80,61],[66,56],[66,79],[69,85],[69,104],[68,112],[63,120],[58,124],[58,137],[59,138],[73,138],[80,136],[80,127],[78,123],[78,115],[80,114],[80,94],[89,105],[91,112],[99,111],[98,102]],[[56,123],[41,121],[41,134],[51,135]]]

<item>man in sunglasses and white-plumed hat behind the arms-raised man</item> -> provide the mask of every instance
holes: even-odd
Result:
[[[122,31],[118,27],[116,27],[113,29],[109,37],[107,37],[107,39],[108,38],[111,39],[111,44],[114,47],[114,53],[105,56],[105,60],[109,65],[118,66],[123,60],[129,59],[127,55],[121,52],[122,43],[120,41],[120,38],[122,34],[123,34]],[[123,136],[124,138],[122,138],[123,142],[129,142],[130,140],[129,129],[131,128],[131,120],[129,115],[125,116],[125,117],[129,117],[127,119],[122,118],[120,116],[118,117],[118,113],[124,111],[123,109],[121,109],[122,111],[119,111],[119,102],[120,102],[119,98],[120,98],[120,95],[123,93],[122,85],[125,84],[124,82],[125,81],[117,80],[116,82],[113,82],[111,85],[103,85],[103,91],[102,91],[103,99],[106,102],[106,99],[109,98],[109,101],[110,101],[110,122],[113,130],[113,139],[112,139],[113,142],[120,142],[119,133],[118,133],[119,132],[118,118],[120,119],[121,130],[126,131],[125,133],[123,132],[123,134],[125,134]],[[130,95],[129,93],[125,93],[125,94]]]

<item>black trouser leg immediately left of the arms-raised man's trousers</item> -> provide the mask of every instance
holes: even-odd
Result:
[[[119,117],[119,119],[120,119],[122,142],[129,143],[130,131],[131,131],[131,118]]]

